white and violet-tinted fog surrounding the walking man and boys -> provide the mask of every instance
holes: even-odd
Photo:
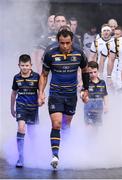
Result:
[[[49,6],[36,0],[2,0],[2,28],[0,47],[0,158],[15,165],[16,120],[10,113],[10,94],[13,76],[18,73],[18,57],[31,54],[37,41],[39,28],[48,16]],[[37,33],[36,33],[37,32]],[[41,34],[41,32],[40,32]],[[48,96],[48,86],[46,89]],[[46,98],[47,100],[47,98]],[[59,168],[87,169],[122,167],[122,94],[109,93],[109,113],[104,115],[101,127],[88,127],[83,119],[83,103],[78,99],[76,115],[71,128],[61,131]],[[25,136],[25,166],[50,168],[51,122],[47,101],[40,108],[40,124],[29,127]]]

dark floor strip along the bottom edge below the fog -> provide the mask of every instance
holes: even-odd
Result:
[[[17,169],[0,159],[0,179],[122,179],[122,168],[91,170]]]

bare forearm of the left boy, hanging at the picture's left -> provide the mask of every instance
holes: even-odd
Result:
[[[16,96],[17,96],[17,91],[12,90],[12,93],[11,93],[11,114],[13,117],[16,117],[16,111],[14,109],[15,102],[16,102]]]

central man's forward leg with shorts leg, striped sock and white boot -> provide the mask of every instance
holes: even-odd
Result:
[[[58,153],[60,146],[60,129],[62,124],[62,116],[64,112],[64,97],[55,95],[48,99],[48,109],[52,122],[52,129],[50,133],[51,148],[53,159],[51,165],[56,168],[58,164]]]

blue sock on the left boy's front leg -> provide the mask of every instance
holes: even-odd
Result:
[[[19,153],[19,159],[23,159],[24,136],[25,134],[17,132],[17,148]]]

